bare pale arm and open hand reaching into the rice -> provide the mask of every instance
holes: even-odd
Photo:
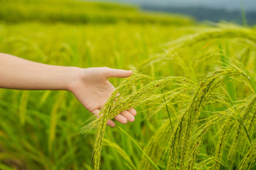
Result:
[[[66,90],[96,117],[109,99],[114,86],[108,78],[126,78],[131,70],[110,69],[108,67],[53,66],[37,63],[0,53],[0,88],[16,90]],[[114,119],[121,124],[133,122],[137,112],[134,108],[123,111]],[[114,127],[115,122],[108,120]]]

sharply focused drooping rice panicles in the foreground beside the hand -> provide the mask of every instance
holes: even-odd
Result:
[[[108,106],[108,109],[102,109],[101,113],[103,113],[102,117],[104,117],[105,121],[99,121],[99,120],[102,120],[101,118],[94,120],[94,122],[93,122],[94,125],[100,124],[100,133],[98,133],[97,138],[104,137],[104,131],[102,131],[102,129],[105,129],[105,128],[102,128],[102,127],[104,127],[104,126],[102,126],[102,122],[104,122],[104,124],[106,125],[106,120],[108,120],[108,118],[115,117],[119,112],[122,112],[131,107],[138,107],[138,105],[141,105],[144,103],[154,103],[154,101],[158,101],[160,96],[161,96],[160,99],[162,100],[162,102],[163,102],[163,99],[162,99],[163,96],[165,96],[167,99],[167,100],[165,100],[165,102],[163,102],[162,107],[160,106],[160,108],[163,108],[164,105],[166,105],[168,102],[170,102],[169,99],[174,98],[173,95],[175,94],[175,92],[177,92],[178,94],[181,94],[184,92],[184,89],[183,89],[182,91],[169,91],[164,94],[163,93],[156,94],[156,92],[159,92],[159,90],[161,90],[164,86],[167,86],[167,84],[176,84],[176,85],[181,86],[182,88],[184,88],[184,86],[187,86],[187,87],[191,86],[191,87],[193,87],[193,88],[191,88],[191,91],[195,91],[195,92],[193,94],[193,97],[191,98],[191,101],[190,101],[187,109],[185,109],[184,113],[182,113],[181,116],[178,118],[178,120],[176,122],[175,129],[170,134],[171,138],[168,142],[168,146],[165,151],[166,154],[168,155],[167,169],[175,169],[177,164],[179,164],[179,167],[181,169],[183,169],[183,168],[190,169],[191,167],[194,166],[195,161],[196,161],[196,155],[197,155],[196,153],[198,151],[200,151],[199,146],[201,146],[201,142],[203,141],[203,138],[209,129],[204,129],[203,130],[204,132],[199,133],[200,137],[197,137],[197,140],[196,140],[196,142],[194,142],[195,144],[192,145],[193,147],[191,149],[189,149],[189,138],[193,134],[193,129],[195,129],[197,126],[197,120],[199,120],[200,112],[203,109],[204,105],[213,103],[213,102],[224,103],[224,104],[226,103],[226,106],[229,107],[229,110],[226,111],[226,113],[231,112],[231,113],[229,113],[230,115],[229,115],[228,119],[226,119],[226,120],[224,119],[222,121],[223,125],[220,128],[221,135],[219,138],[219,142],[216,145],[217,147],[216,147],[216,152],[215,152],[215,158],[221,159],[222,153],[225,148],[225,143],[228,139],[228,134],[230,134],[227,132],[227,130],[229,129],[231,120],[237,120],[239,122],[239,124],[242,125],[243,128],[245,128],[246,133],[247,133],[247,129],[243,125],[243,120],[241,119],[241,116],[244,117],[248,112],[251,111],[251,108],[253,107],[253,105],[255,103],[255,99],[253,98],[252,100],[249,100],[252,103],[247,104],[247,109],[245,109],[245,111],[240,115],[240,113],[238,113],[236,111],[236,107],[233,108],[232,105],[230,105],[228,103],[228,101],[232,101],[230,96],[228,99],[225,99],[225,98],[221,99],[219,97],[220,95],[213,94],[211,96],[210,93],[214,90],[214,88],[220,87],[220,86],[222,86],[222,84],[230,82],[230,79],[228,79],[229,77],[238,76],[238,75],[245,76],[247,79],[249,79],[248,76],[241,69],[239,69],[238,67],[233,66],[233,65],[230,65],[230,67],[226,67],[226,69],[217,70],[212,73],[209,73],[199,83],[199,86],[192,86],[191,84],[188,83],[189,80],[186,80],[185,78],[170,77],[170,78],[164,78],[164,79],[160,79],[160,80],[154,80],[154,79],[148,78],[146,76],[146,78],[148,80],[150,80],[150,83],[148,83],[146,86],[143,86],[141,89],[139,89],[137,92],[135,92],[135,94],[127,95],[123,98],[116,97],[117,92],[120,92],[120,94],[123,95],[123,94],[126,94],[126,92],[130,90],[131,86],[130,85],[127,86],[127,84],[129,84],[129,81],[132,82],[134,84],[134,86],[136,86],[138,83],[136,83],[135,80],[143,80],[143,78],[145,77],[141,74],[135,74],[134,76],[131,76],[131,78],[124,80],[119,85],[117,90],[113,93],[112,97],[110,97],[111,100],[109,100],[105,105],[105,107]],[[138,78],[141,78],[141,79],[138,79]],[[216,80],[216,79],[218,79],[217,83],[214,84],[214,80]],[[141,81],[139,81],[139,83],[141,83]],[[177,89],[179,89],[179,88],[177,88]],[[175,90],[177,90],[177,89],[175,89]],[[217,96],[217,97],[215,97],[215,96]],[[214,97],[215,97],[215,99],[218,99],[218,100],[215,101]],[[115,98],[117,98],[117,100],[115,101],[115,103],[113,103]],[[213,100],[213,101],[210,101],[208,99]],[[111,105],[111,109],[109,109],[110,105]],[[159,110],[160,110],[159,107],[156,108],[157,112],[159,112]],[[227,118],[227,117],[224,117],[224,118]],[[218,119],[218,117],[216,117],[216,119]],[[214,119],[210,119],[209,121],[214,122]],[[210,127],[211,126],[213,126],[213,123],[210,123]],[[88,128],[88,127],[89,127],[88,125],[84,126],[83,129],[92,129],[92,128],[90,128],[90,127]],[[167,128],[168,126],[163,126],[163,127]],[[205,126],[205,127],[208,127],[208,126]],[[171,129],[171,128],[169,127],[169,129]],[[160,134],[162,134],[162,129],[160,129],[160,132],[161,132]],[[156,133],[156,134],[159,135],[159,133]],[[96,146],[94,147],[94,150],[95,150],[94,154],[95,154],[95,152],[97,152],[96,153],[97,156],[94,157],[94,162],[97,162],[97,165],[96,165],[96,167],[94,167],[94,169],[98,169],[99,163],[100,163],[100,151],[98,150],[98,148],[101,148],[101,142],[97,143],[97,138],[96,138]],[[155,141],[156,139],[152,138],[152,141],[156,142]],[[250,140],[250,137],[249,137],[249,140]],[[163,139],[163,142],[166,142],[166,140]],[[150,144],[152,144],[152,143],[150,142]],[[150,145],[150,146],[152,146],[152,145]],[[149,152],[150,155],[152,155],[153,158],[155,158],[154,154],[151,153],[151,151],[155,150],[154,149],[155,146],[154,145],[153,145],[153,147],[150,147],[150,146],[149,146],[147,152]],[[190,158],[189,162],[185,162],[185,160],[188,160],[188,158]],[[156,160],[158,160],[158,159],[159,159],[159,156],[156,155]],[[180,160],[180,162],[177,162],[177,160]],[[220,162],[221,162],[221,160],[216,161],[215,164],[213,165],[213,169],[219,169]]]

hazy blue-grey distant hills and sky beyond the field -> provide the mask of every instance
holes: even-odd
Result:
[[[105,2],[111,1],[105,0]],[[247,23],[253,25],[256,22],[256,2],[254,0],[115,0],[112,2],[139,6],[141,10],[189,15],[200,22],[205,20],[211,22],[225,20],[242,24],[241,10],[245,10]]]

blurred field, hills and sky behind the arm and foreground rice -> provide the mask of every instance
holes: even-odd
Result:
[[[145,59],[163,53],[167,42],[214,27],[212,22],[255,28],[255,2],[0,0],[0,52],[51,65],[136,72]],[[164,62],[141,73],[185,76],[177,70]],[[115,86],[120,81],[110,79]],[[137,108],[134,123],[117,123],[141,147],[167,118],[164,113],[147,120],[141,112],[146,109]],[[79,133],[90,116],[66,91],[0,89],[0,169],[92,169],[94,131]],[[108,127],[105,138],[139,169],[141,151],[125,134]],[[101,169],[129,169],[117,148],[105,145]]]

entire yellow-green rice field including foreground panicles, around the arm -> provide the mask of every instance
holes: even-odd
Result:
[[[253,26],[0,0],[1,53],[134,73],[109,79],[117,90],[97,119],[68,91],[0,89],[0,169],[256,169],[255,50]],[[133,107],[133,123],[106,126]]]

